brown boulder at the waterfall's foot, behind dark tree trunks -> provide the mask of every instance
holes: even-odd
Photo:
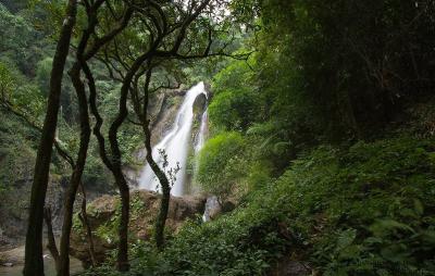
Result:
[[[132,239],[149,240],[160,206],[160,195],[152,191],[132,192],[129,230]],[[176,233],[183,222],[202,215],[204,197],[172,197],[166,229]],[[88,205],[88,219],[92,228],[96,258],[102,262],[108,250],[116,248],[116,222],[120,199],[117,196],[103,196]],[[90,264],[87,239],[80,225],[75,224],[71,237],[71,254],[84,265]]]

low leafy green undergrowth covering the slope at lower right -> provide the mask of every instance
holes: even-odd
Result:
[[[297,254],[321,275],[434,275],[434,156],[433,140],[407,136],[320,147],[163,252],[137,246],[130,274],[266,275]]]

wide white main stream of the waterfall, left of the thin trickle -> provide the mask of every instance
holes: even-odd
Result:
[[[152,156],[161,168],[163,159],[159,153],[159,150],[164,150],[167,154],[167,166],[165,170],[166,172],[170,168],[177,167],[177,165],[179,165],[181,167],[181,170],[176,174],[176,180],[171,190],[171,193],[173,196],[183,196],[184,192],[187,154],[191,137],[191,126],[194,122],[194,102],[195,99],[201,93],[207,95],[204,84],[202,81],[187,91],[175,117],[172,130],[167,135],[165,135],[163,139],[152,149]],[[201,143],[203,145],[204,137],[199,137],[198,142],[200,139],[202,139]],[[199,146],[199,143],[197,143],[195,148],[197,148],[197,146]],[[139,188],[159,191],[159,180],[157,179],[151,167],[147,164],[139,177]]]

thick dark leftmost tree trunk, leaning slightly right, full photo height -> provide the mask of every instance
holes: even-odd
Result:
[[[26,235],[25,264],[23,271],[25,276],[45,275],[42,260],[44,204],[47,193],[54,133],[58,125],[58,112],[60,105],[60,95],[62,90],[63,71],[70,50],[70,41],[73,27],[75,25],[76,12],[77,1],[70,0],[66,7],[66,17],[63,22],[53,58],[46,118],[44,122],[40,143],[36,156],[34,180],[32,185]]]

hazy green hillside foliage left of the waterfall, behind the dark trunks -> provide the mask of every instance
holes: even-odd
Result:
[[[8,3],[5,4],[8,7]],[[3,137],[2,139],[4,140],[1,145],[4,147],[2,155],[4,156],[5,164],[14,164],[18,162],[20,155],[23,155],[22,158],[26,160],[33,160],[36,153],[35,148],[39,131],[33,125],[37,127],[41,127],[42,125],[54,43],[51,39],[53,34],[40,30],[38,28],[38,21],[51,15],[51,12],[55,11],[47,11],[39,5],[29,7],[28,4],[20,4],[16,5],[20,8],[20,13],[14,14],[7,7],[0,4],[0,24],[2,24],[1,29],[3,34],[0,42],[0,85],[2,89],[2,108],[7,108],[5,103],[10,103],[10,105],[1,110],[4,112],[4,126],[0,137]],[[27,8],[37,9],[41,14],[38,13],[36,17],[32,17],[29,12],[34,10],[27,10]],[[51,8],[54,9],[55,5]],[[95,64],[95,66],[98,68],[98,74],[104,78],[104,80],[97,83],[103,93],[100,109],[102,110],[102,114],[113,116],[115,109],[117,109],[117,85],[104,77],[107,73],[102,71],[102,65]],[[61,106],[58,139],[65,150],[75,152],[78,148],[79,139],[76,136],[78,129],[77,102],[67,76],[64,77]],[[11,108],[17,114],[11,113]],[[12,123],[15,124],[15,127],[8,126],[8,124]],[[17,139],[16,135],[22,131],[24,131],[23,138]],[[125,153],[125,162],[133,166],[135,165],[133,153],[141,143],[141,138],[137,135],[137,131],[138,129],[135,126],[124,126],[122,129],[124,135],[120,141],[121,148]],[[8,142],[8,140],[18,143],[23,142],[23,146],[29,145],[30,148],[21,152],[16,151],[14,150],[13,142]],[[88,158],[84,183],[90,189],[105,189],[104,186],[111,181],[98,156],[96,141],[92,140],[91,142],[92,148]],[[7,154],[7,152],[11,154]],[[29,152],[29,155],[25,155],[26,152]],[[60,156],[54,156],[53,164],[53,173],[70,174],[67,164]],[[2,167],[5,168],[8,166],[2,165]],[[17,167],[20,166],[16,165]],[[2,183],[7,181],[7,186],[11,187],[17,180],[27,179],[28,173],[32,170],[33,164],[30,163],[25,168],[26,174],[24,172],[10,175],[0,173],[0,177],[3,179]]]

